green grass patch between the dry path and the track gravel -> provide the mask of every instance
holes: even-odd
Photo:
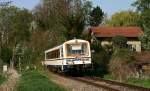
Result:
[[[16,91],[66,91],[39,71],[23,72]]]

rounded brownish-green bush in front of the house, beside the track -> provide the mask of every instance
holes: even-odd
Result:
[[[135,76],[134,57],[127,49],[116,50],[109,63],[111,75],[116,76],[118,80],[124,80]]]

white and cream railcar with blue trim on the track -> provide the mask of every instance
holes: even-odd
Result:
[[[82,39],[66,41],[62,45],[46,50],[42,64],[60,71],[72,67],[89,67],[91,65],[90,44]]]

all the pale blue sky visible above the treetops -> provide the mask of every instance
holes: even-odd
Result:
[[[0,0],[1,1],[1,0]],[[8,0],[6,0],[8,1]],[[32,10],[40,0],[11,0],[13,5]],[[121,10],[133,10],[131,4],[135,0],[91,0],[94,6],[100,6],[107,15],[112,15]]]

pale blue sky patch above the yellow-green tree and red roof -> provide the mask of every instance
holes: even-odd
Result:
[[[92,0],[94,6],[100,6],[108,15],[122,10],[135,10],[132,3],[136,0]]]

